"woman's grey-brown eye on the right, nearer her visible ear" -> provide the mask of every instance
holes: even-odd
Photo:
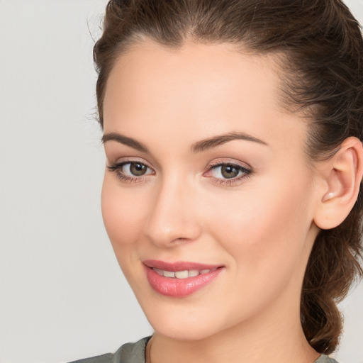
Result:
[[[218,184],[230,185],[247,177],[251,172],[250,169],[242,167],[242,165],[230,162],[219,162],[218,164],[212,165],[204,176],[216,179]]]

